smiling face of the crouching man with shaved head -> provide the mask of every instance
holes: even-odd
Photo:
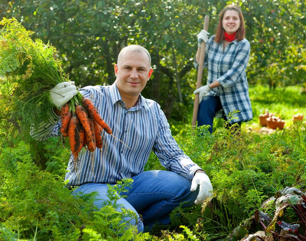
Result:
[[[138,97],[153,72],[146,53],[134,51],[126,51],[114,69],[116,84],[123,99]]]

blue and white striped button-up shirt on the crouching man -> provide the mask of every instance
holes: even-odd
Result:
[[[91,153],[84,148],[79,154],[77,167],[71,154],[65,181],[68,185],[86,182],[115,183],[144,171],[151,150],[168,170],[192,180],[196,170],[201,169],[184,154],[171,135],[169,124],[160,106],[141,95],[136,106],[126,108],[116,82],[107,87],[87,86],[79,90],[91,99],[101,117],[111,127],[112,133],[121,141],[104,132],[105,144]],[[51,111],[49,122],[39,126],[32,137],[38,140],[59,136],[60,116]]]

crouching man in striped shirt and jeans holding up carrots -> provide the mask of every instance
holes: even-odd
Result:
[[[149,229],[155,222],[169,224],[169,214],[176,206],[181,202],[187,202],[185,206],[201,204],[211,196],[212,185],[205,172],[175,142],[160,106],[140,94],[153,72],[149,52],[139,45],[129,45],[121,50],[114,69],[113,85],[88,86],[79,91],[91,99],[113,135],[124,144],[105,133],[101,152],[96,149],[93,153],[81,153],[78,168],[74,168],[73,157],[70,159],[65,180],[79,186],[77,192],[97,191],[101,200],[95,205],[101,207],[103,200],[108,199],[107,183],[131,177],[132,187],[119,204],[141,214]],[[50,91],[58,108],[76,93],[73,82],[60,83]],[[60,134],[60,111],[55,111],[51,112],[50,123],[44,123],[34,138]],[[151,150],[169,171],[144,172]],[[198,185],[200,191],[195,192]],[[136,220],[131,224],[136,224]],[[138,230],[143,231],[141,221]]]

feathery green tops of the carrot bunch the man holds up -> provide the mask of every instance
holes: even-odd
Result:
[[[46,112],[54,106],[49,90],[69,81],[69,76],[49,42],[32,40],[34,32],[27,31],[15,18],[3,18],[0,25],[0,103],[5,110],[1,122],[29,127],[46,118]],[[74,111],[81,100],[78,92],[69,102],[70,110]]]

